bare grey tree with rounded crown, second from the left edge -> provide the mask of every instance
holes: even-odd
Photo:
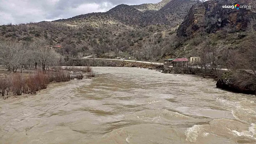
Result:
[[[40,39],[37,42],[31,43],[31,53],[33,54],[35,60],[39,62],[42,67],[43,73],[46,73],[46,68],[54,63],[55,52],[50,48],[46,47],[47,42],[44,39]]]

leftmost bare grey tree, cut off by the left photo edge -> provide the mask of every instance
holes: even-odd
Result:
[[[13,42],[0,42],[0,60],[9,71],[16,73],[17,69],[27,60],[25,45]]]

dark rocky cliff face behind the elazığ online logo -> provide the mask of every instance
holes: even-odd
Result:
[[[250,5],[251,2],[251,0],[210,0],[193,5],[178,28],[177,35],[191,36],[199,30],[214,33],[223,27],[227,27],[229,32],[245,30],[251,10],[222,8],[222,6]]]

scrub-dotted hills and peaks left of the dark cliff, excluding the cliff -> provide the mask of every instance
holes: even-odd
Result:
[[[163,0],[157,4],[118,5],[104,13],[81,14],[52,22],[0,26],[0,39],[32,42],[47,39],[50,45],[72,44],[82,53],[107,53],[122,48],[140,58],[146,43],[156,45],[175,33],[195,1]],[[159,45],[154,57],[162,52]],[[138,56],[140,55],[140,56]]]

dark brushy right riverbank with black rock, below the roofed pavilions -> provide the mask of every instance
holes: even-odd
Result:
[[[247,71],[224,71],[192,67],[158,68],[162,73],[192,74],[216,80],[216,87],[236,93],[256,94],[256,77]]]

